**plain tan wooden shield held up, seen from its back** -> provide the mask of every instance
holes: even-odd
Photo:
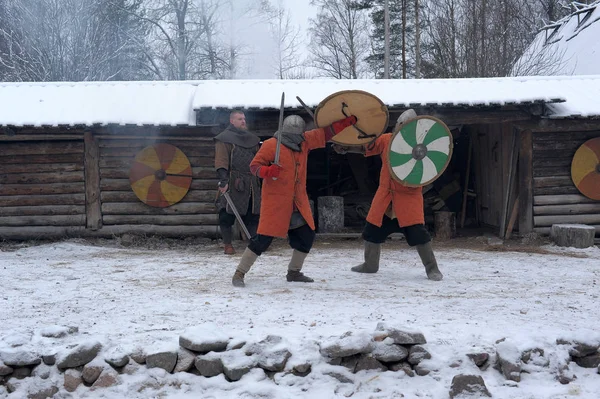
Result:
[[[356,124],[333,136],[334,143],[368,144],[387,129],[387,107],[373,94],[361,90],[339,91],[321,101],[315,110],[315,125],[325,127],[350,115],[356,116]]]

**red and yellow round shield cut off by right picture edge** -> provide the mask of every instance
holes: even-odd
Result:
[[[571,162],[571,179],[581,194],[600,200],[600,137],[577,149]]]

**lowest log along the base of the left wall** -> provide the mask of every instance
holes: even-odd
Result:
[[[121,225],[103,226],[99,230],[86,229],[84,226],[35,226],[0,227],[0,238],[4,240],[61,239],[70,237],[114,238],[123,234],[140,234],[161,237],[217,237],[217,225],[205,226],[155,226]]]

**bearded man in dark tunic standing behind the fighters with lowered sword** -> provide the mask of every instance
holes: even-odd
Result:
[[[256,234],[260,213],[259,178],[250,173],[250,161],[258,152],[260,139],[246,127],[242,111],[232,111],[229,126],[215,137],[215,169],[219,178],[220,193],[229,192],[231,199],[248,228],[251,236]],[[221,195],[217,202],[219,227],[225,244],[224,253],[235,254],[231,244],[235,214]]]

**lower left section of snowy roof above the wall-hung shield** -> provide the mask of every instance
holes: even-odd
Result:
[[[0,83],[0,125],[195,125],[197,82]]]

